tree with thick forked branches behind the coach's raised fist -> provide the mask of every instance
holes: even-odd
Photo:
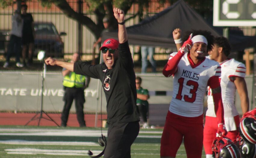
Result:
[[[27,0],[31,1],[31,0]],[[137,3],[143,9],[143,7],[147,7],[150,0],[78,0],[82,1],[83,3],[86,3],[86,5],[89,7],[89,11],[94,13],[96,16],[96,22],[94,22],[92,19],[90,19],[88,16],[77,13],[75,10],[73,10],[68,1],[66,0],[38,0],[41,1],[41,4],[43,7],[50,7],[51,4],[55,4],[56,7],[58,7],[66,16],[68,16],[71,19],[74,19],[76,21],[79,21],[82,25],[85,25],[92,34],[95,35],[96,39],[100,37],[101,31],[104,29],[102,19],[107,16],[110,21],[110,30],[117,28],[117,21],[114,18],[113,13],[113,5],[120,7],[124,10],[125,13],[130,9],[130,7]],[[0,0],[0,6],[1,7],[7,7],[14,3],[20,4],[21,0]],[[142,10],[139,10],[136,15],[142,13]],[[136,16],[135,15],[135,16]],[[135,17],[134,16],[134,17]],[[127,19],[126,19],[127,20]]]

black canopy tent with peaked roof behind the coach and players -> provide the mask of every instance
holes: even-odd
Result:
[[[192,29],[208,30],[214,36],[222,35],[220,28],[208,24],[183,0],[126,29],[129,44],[176,48],[172,35],[175,28],[181,28],[183,32]],[[103,40],[108,38],[117,39],[117,31],[104,32]],[[243,51],[245,48],[255,47],[256,37],[230,32],[229,42],[233,51]]]

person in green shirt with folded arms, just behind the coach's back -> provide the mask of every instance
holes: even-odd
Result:
[[[136,90],[137,90],[137,101],[136,104],[139,109],[139,115],[142,117],[143,126],[142,128],[149,128],[147,116],[148,116],[148,99],[149,93],[147,89],[143,89],[141,85],[142,79],[136,77]]]

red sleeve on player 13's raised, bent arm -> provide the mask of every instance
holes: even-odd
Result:
[[[181,53],[180,51],[174,55],[173,58],[169,59],[167,64],[164,66],[163,69],[163,75],[165,77],[169,77],[171,76],[173,73],[175,73],[177,65],[180,62],[180,59],[183,57],[183,53]]]

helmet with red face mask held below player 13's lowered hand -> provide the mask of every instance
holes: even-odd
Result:
[[[239,148],[225,136],[216,137],[212,144],[214,158],[241,158]]]

